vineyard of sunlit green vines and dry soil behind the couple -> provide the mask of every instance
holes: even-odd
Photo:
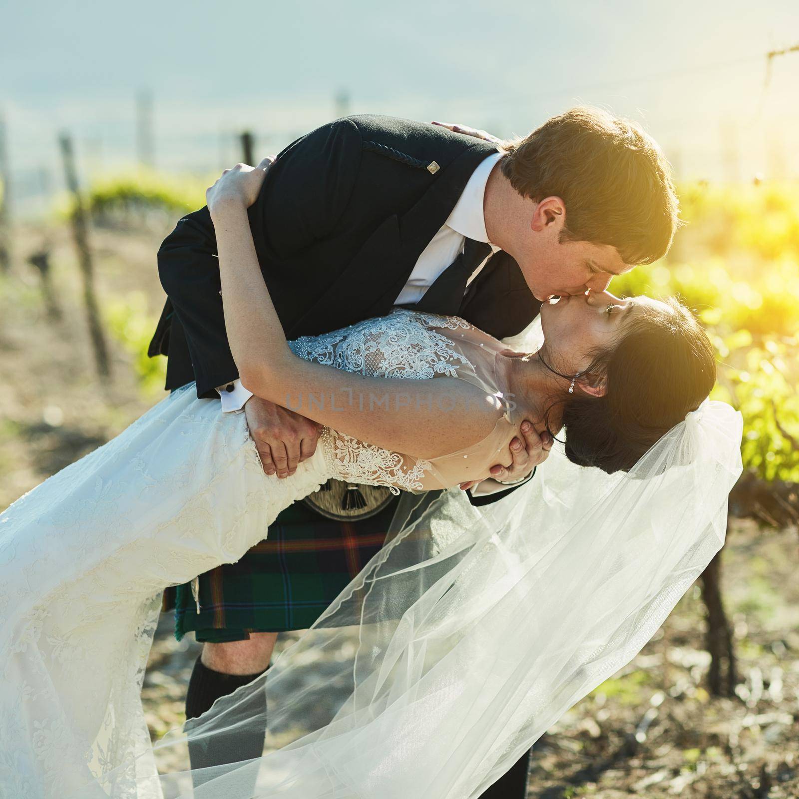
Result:
[[[14,228],[0,272],[0,509],[163,396],[164,359],[145,353],[163,301],[155,252],[202,205],[205,185],[132,173],[87,190],[105,377],[92,356],[74,198],[46,223]],[[698,314],[718,352],[714,398],[744,418],[745,475],[727,544],[702,581],[630,666],[536,745],[539,799],[799,795],[799,186],[680,193],[686,224],[668,258],[610,291],[677,295]],[[182,721],[197,652],[163,621],[145,684],[156,735]]]

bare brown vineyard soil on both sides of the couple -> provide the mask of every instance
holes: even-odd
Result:
[[[101,303],[141,292],[156,317],[155,252],[169,228],[93,232]],[[50,238],[63,318],[47,320],[24,258]],[[133,356],[112,342],[113,383],[93,368],[69,232],[22,230],[17,263],[0,276],[0,508],[141,415]],[[734,698],[705,687],[709,656],[698,586],[641,654],[570,710],[536,745],[528,796],[788,799],[799,797],[799,579],[794,528],[733,523],[724,559],[741,682]],[[177,643],[165,616],[143,694],[153,737],[183,721],[199,647]],[[297,634],[284,634],[282,650]],[[324,665],[320,664],[320,674]],[[409,797],[410,799],[410,797]]]

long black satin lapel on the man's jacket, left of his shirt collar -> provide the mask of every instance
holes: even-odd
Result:
[[[477,141],[435,175],[427,192],[402,216],[385,219],[364,242],[356,256],[286,331],[327,332],[346,324],[384,316],[413,271],[432,237],[447,221],[471,173],[494,145]]]

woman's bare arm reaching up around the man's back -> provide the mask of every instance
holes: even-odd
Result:
[[[485,438],[501,411],[463,380],[364,377],[294,355],[264,283],[247,217],[248,201],[257,197],[267,168],[267,161],[252,171],[238,165],[207,193],[225,327],[242,383],[264,400],[415,458],[447,455]]]

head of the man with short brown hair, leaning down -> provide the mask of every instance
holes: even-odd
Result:
[[[539,300],[602,291],[668,251],[678,225],[669,163],[635,122],[576,108],[501,150],[492,240]]]

